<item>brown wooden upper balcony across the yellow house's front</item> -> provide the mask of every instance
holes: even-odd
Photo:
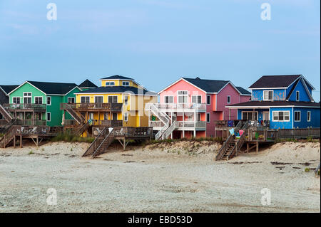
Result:
[[[66,110],[66,105],[78,112],[121,112],[123,103],[61,103],[61,110]]]

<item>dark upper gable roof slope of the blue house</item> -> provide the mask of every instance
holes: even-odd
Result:
[[[253,85],[250,85],[249,88],[287,88],[301,76],[302,75],[263,75],[253,83]]]

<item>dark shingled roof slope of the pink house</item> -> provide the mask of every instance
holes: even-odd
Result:
[[[203,80],[200,78],[183,78],[189,83],[192,83],[196,87],[204,90],[207,93],[218,93],[225,85],[227,85],[229,80]]]

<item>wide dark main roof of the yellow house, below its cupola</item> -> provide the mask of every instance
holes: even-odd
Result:
[[[99,87],[99,88],[93,88],[91,90],[84,90],[76,94],[91,94],[91,93],[132,93],[135,95],[157,95],[156,93],[153,93],[151,91],[141,88],[135,88],[135,87],[128,87],[128,86],[107,86],[107,87]]]

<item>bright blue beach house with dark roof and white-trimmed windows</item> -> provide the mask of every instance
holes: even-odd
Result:
[[[227,106],[238,110],[238,120],[269,122],[271,129],[320,127],[320,102],[303,75],[263,75],[250,90],[250,101]]]

